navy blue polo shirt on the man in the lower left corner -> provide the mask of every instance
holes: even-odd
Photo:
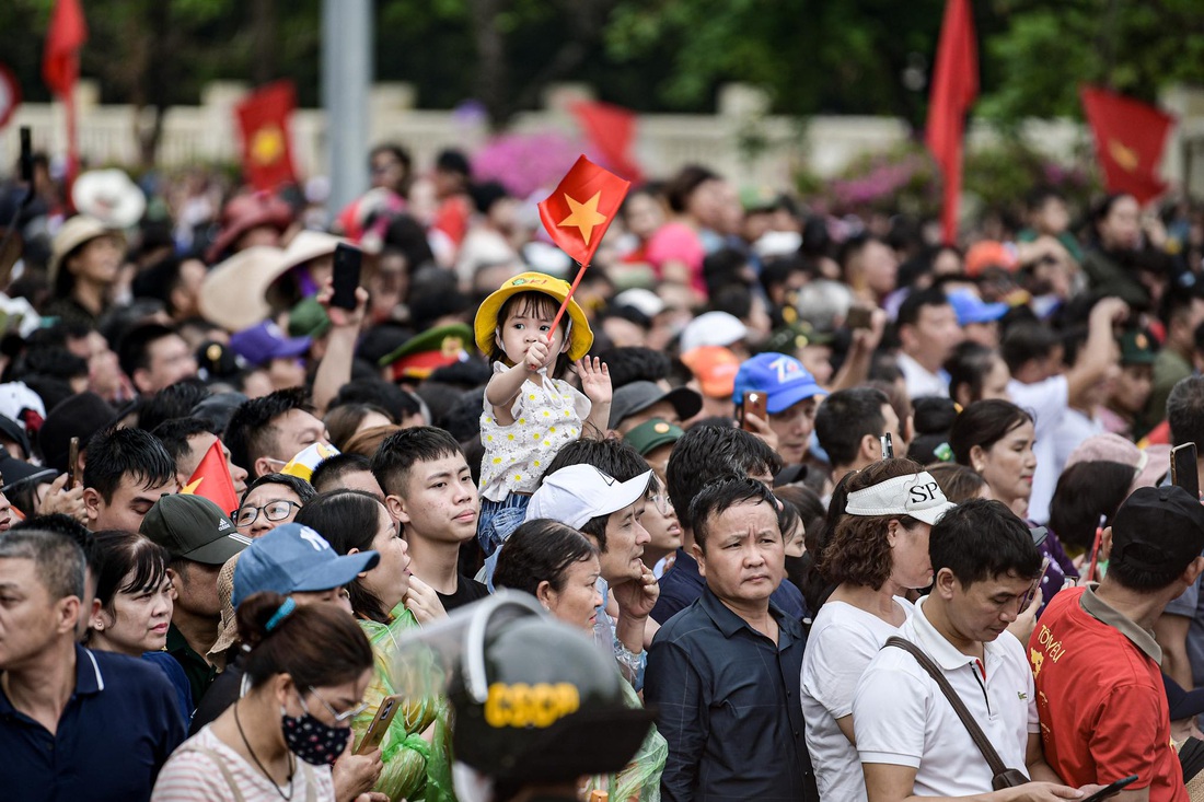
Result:
[[[76,645],[76,688],[51,735],[0,689],[0,796],[140,802],[184,739],[176,692],[144,660]]]

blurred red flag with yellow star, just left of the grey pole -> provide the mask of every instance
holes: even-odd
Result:
[[[260,87],[235,106],[242,130],[242,173],[252,187],[273,191],[281,184],[296,183],[289,119],[296,108],[291,81]]]

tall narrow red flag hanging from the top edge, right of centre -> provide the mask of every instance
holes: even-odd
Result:
[[[937,69],[928,96],[925,141],[940,173],[944,191],[940,231],[946,243],[957,238],[957,201],[962,191],[962,142],[966,114],[978,98],[978,45],[969,0],[948,0],[937,46]]]

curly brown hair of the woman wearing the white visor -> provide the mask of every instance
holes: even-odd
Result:
[[[922,470],[919,462],[908,459],[881,460],[851,474],[845,490],[854,494]],[[907,530],[920,523],[910,515],[842,515],[820,552],[816,570],[834,585],[848,582],[878,590],[891,577],[891,546],[886,530],[892,520]]]

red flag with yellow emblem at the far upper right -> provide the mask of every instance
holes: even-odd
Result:
[[[1167,183],[1155,171],[1175,118],[1097,87],[1084,87],[1080,95],[1108,191],[1128,193],[1143,205],[1161,195]]]

